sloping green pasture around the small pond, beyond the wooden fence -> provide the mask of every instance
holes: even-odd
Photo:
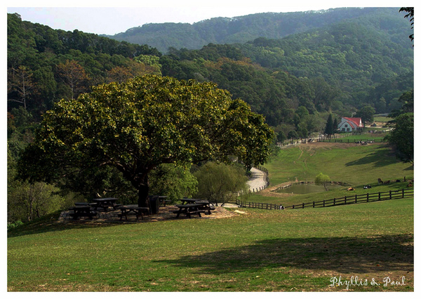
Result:
[[[340,143],[309,143],[283,149],[278,157],[265,165],[269,170],[271,186],[283,182],[314,181],[316,175],[324,173],[335,182],[347,185],[328,192],[312,194],[267,194],[267,190],[248,195],[244,201],[272,204],[302,204],[303,202],[333,199],[353,194],[386,192],[406,188],[403,177],[413,178],[413,166],[396,160],[385,144],[356,145]],[[377,185],[377,178],[390,180],[389,185]],[[401,180],[402,182],[396,182]],[[370,185],[369,190],[363,189]],[[347,191],[353,187],[354,191]]]

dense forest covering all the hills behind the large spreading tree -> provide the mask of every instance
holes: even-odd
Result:
[[[178,27],[183,34],[188,34],[187,27],[201,27],[205,46],[180,41],[180,47],[168,44],[164,54],[153,43],[65,32],[8,14],[8,203],[20,207],[8,209],[8,220],[32,220],[73,200],[58,186],[15,180],[15,163],[46,110],[98,84],[142,74],[213,81],[263,114],[279,141],[322,132],[329,115],[340,119],[367,106],[377,113],[400,109],[401,95],[413,90],[413,44],[408,21],[398,11],[292,13],[278,22],[268,21],[278,14],[217,18]],[[204,32],[213,39],[203,38]],[[179,33],[173,32],[171,39]],[[188,175],[181,170],[166,173],[171,171],[180,173],[179,178]],[[120,192],[130,189],[109,169],[85,173],[72,184],[86,194],[116,185]]]

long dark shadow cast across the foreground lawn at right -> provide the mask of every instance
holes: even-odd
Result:
[[[333,270],[342,273],[413,271],[413,236],[269,239],[249,246],[156,263],[188,267],[200,274],[227,274],[265,267]]]

